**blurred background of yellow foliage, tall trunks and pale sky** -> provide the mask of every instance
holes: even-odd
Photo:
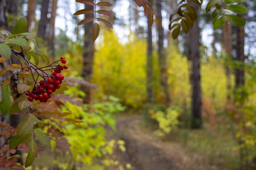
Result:
[[[83,4],[68,0],[0,0],[0,27],[11,30],[12,20],[25,16],[28,31],[45,41],[42,47],[52,57],[72,59],[70,76],[97,84],[130,109],[149,102],[149,116],[151,109],[179,106],[181,127],[228,123],[244,154],[241,164],[255,161],[255,2],[246,3],[244,27],[225,23],[213,31],[211,19],[201,10],[188,35],[176,40],[170,38],[168,16],[177,2],[150,1],[162,20],[161,26],[152,27],[134,1],[111,3],[114,30],[100,30],[95,43],[92,22],[77,26],[80,18],[72,16]],[[93,90],[84,91],[84,102],[93,102]]]

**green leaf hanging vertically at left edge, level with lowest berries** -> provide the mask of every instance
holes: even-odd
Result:
[[[2,115],[5,116],[11,107],[11,99],[9,95],[8,86],[2,86],[2,101],[0,102],[0,110]]]

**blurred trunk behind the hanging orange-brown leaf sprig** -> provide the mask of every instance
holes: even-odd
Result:
[[[93,9],[93,6],[85,5],[85,9]],[[87,17],[94,17],[94,14],[87,14]],[[92,41],[91,28],[93,22],[86,23],[84,25],[84,61],[83,61],[83,71],[82,76],[88,82],[92,78],[93,60],[94,60],[94,43]],[[91,89],[84,89],[86,97],[84,99],[85,103],[90,103],[91,100]]]

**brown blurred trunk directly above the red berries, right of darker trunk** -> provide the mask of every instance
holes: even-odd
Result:
[[[49,21],[48,47],[52,57],[55,57],[55,18],[58,0],[52,0],[51,18]]]

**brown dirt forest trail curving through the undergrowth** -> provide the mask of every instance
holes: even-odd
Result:
[[[133,170],[224,170],[210,165],[206,158],[196,152],[187,151],[177,143],[164,142],[154,133],[145,133],[139,126],[142,115],[124,115],[117,119],[117,132],[110,133],[112,139],[125,141],[126,152],[116,149],[112,159],[125,167],[130,163]]]

